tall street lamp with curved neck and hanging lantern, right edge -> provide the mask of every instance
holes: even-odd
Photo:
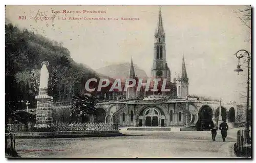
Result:
[[[245,142],[246,144],[250,144],[250,135],[249,135],[249,119],[248,119],[248,112],[249,112],[249,84],[250,84],[250,53],[246,50],[239,50],[237,53],[235,53],[236,57],[238,58],[238,65],[237,69],[234,70],[234,72],[243,72],[243,69],[241,69],[240,65],[240,59],[243,58],[245,55],[248,55],[248,74],[247,74],[247,101],[246,101],[246,128],[245,128]]]

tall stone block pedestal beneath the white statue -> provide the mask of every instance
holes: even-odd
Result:
[[[52,126],[52,101],[53,97],[47,95],[47,89],[40,89],[39,95],[35,97],[36,105],[36,128]]]

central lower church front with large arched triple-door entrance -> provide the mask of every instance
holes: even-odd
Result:
[[[185,126],[191,122],[193,115],[185,109],[185,103],[169,105],[134,105],[120,110],[114,117],[120,127],[171,127]]]

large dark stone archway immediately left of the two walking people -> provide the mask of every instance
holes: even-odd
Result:
[[[210,122],[212,119],[212,108],[208,105],[204,105],[198,112],[197,130],[210,130]]]

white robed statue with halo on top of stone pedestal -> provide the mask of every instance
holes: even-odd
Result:
[[[39,88],[47,89],[48,88],[48,80],[49,80],[49,72],[47,66],[49,65],[48,61],[42,62],[42,68],[40,72],[40,85]]]

